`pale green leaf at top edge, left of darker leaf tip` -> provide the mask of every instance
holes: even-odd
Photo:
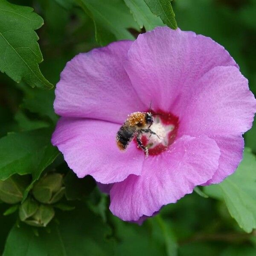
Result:
[[[138,23],[140,28],[152,30],[157,26],[164,26],[160,17],[152,14],[144,0],[124,0],[126,5],[134,16],[134,20]]]

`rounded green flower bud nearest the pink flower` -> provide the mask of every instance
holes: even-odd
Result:
[[[61,200],[65,192],[63,176],[50,173],[42,177],[32,189],[35,199],[44,204],[54,204]]]

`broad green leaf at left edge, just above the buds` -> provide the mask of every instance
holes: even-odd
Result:
[[[52,155],[47,154],[47,149],[53,148],[49,141],[51,133],[50,129],[38,129],[9,133],[2,137],[0,139],[0,179],[5,180],[15,173],[32,174],[33,177],[38,177],[38,174],[52,162]],[[56,149],[52,149],[51,154],[55,151]],[[56,153],[54,156],[56,157]]]

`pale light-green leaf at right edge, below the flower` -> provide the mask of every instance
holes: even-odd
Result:
[[[248,233],[256,228],[255,170],[255,156],[246,148],[244,158],[233,175],[227,177],[220,184],[209,186],[209,188],[205,187],[204,189],[204,192],[209,196],[223,198],[230,215]]]

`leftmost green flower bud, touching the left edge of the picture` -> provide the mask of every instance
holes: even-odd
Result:
[[[0,180],[0,200],[7,204],[16,204],[23,198],[23,192],[29,185],[29,176],[12,175]]]

